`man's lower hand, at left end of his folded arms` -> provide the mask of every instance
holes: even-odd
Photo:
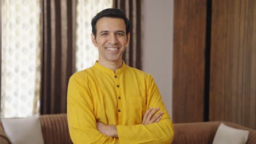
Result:
[[[117,137],[117,126],[116,125],[106,125],[101,122],[97,122],[97,130],[100,131],[102,134],[110,136],[110,137]]]

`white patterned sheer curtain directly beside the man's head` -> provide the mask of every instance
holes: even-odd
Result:
[[[98,49],[91,41],[91,19],[103,9],[111,8],[113,0],[78,0],[75,69],[83,70],[94,65]]]

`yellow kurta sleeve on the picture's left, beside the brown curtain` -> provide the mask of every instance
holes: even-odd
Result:
[[[84,85],[83,77],[79,75],[69,79],[67,118],[74,144],[119,143],[119,139],[103,135],[97,130],[91,94]]]

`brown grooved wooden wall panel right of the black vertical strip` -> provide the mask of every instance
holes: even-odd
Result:
[[[256,129],[256,0],[213,0],[210,121]]]

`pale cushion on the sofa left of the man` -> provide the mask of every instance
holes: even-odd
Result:
[[[43,144],[39,115],[26,118],[2,118],[6,135],[13,144]]]

